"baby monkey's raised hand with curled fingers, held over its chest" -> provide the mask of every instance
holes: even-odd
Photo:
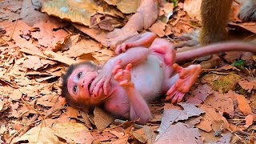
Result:
[[[114,74],[114,79],[119,82],[120,86],[124,88],[134,87],[134,82],[131,82],[130,70],[132,68],[132,64],[129,63],[126,66],[126,69],[123,69],[120,65],[121,61],[118,61],[114,66],[114,70],[112,73]]]

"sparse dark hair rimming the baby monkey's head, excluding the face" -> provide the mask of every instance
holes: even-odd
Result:
[[[98,70],[98,66],[94,64],[94,62],[86,61],[86,62],[80,62],[77,64],[72,64],[68,70],[66,70],[66,74],[62,75],[62,97],[66,98],[66,102],[70,104],[70,106],[76,106],[79,108],[85,107],[82,102],[77,102],[73,98],[70,97],[70,93],[67,89],[67,79],[70,77],[70,75],[76,70],[79,66],[88,66],[92,69]]]

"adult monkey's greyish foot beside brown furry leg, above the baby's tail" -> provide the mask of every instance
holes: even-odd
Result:
[[[176,42],[179,42],[175,45],[175,48],[181,48],[184,46],[199,46],[199,30],[194,30],[192,33],[183,34],[180,37],[175,38]]]

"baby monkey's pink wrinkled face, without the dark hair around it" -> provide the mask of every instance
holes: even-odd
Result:
[[[95,105],[102,102],[104,94],[102,88],[98,94],[90,94],[90,85],[98,76],[97,70],[90,66],[78,66],[67,79],[67,89],[70,97],[85,105]]]

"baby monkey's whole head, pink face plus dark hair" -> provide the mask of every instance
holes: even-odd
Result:
[[[71,106],[83,108],[102,102],[102,94],[90,94],[90,84],[98,76],[99,66],[86,61],[71,65],[62,75],[62,96]]]

